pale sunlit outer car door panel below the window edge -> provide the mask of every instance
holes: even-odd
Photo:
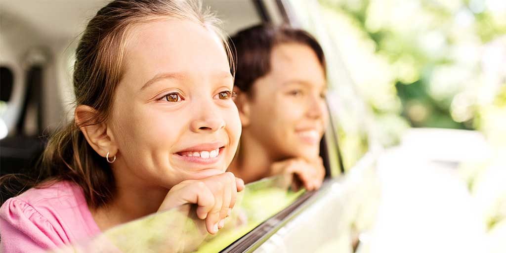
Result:
[[[326,181],[311,204],[254,252],[370,252],[383,198],[378,176],[370,164]]]

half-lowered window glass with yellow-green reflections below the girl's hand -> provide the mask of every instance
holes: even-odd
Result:
[[[218,252],[293,203],[305,190],[290,189],[292,177],[276,176],[246,185],[225,227],[206,232],[195,206],[185,204],[115,228],[54,252]]]

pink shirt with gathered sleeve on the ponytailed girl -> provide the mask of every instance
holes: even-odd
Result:
[[[81,188],[59,182],[29,189],[0,207],[0,252],[39,252],[100,233]]]

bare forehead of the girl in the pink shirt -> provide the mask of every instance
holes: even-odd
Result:
[[[230,73],[227,53],[216,33],[191,21],[160,20],[135,26],[126,48],[124,77],[137,79],[137,84],[165,73],[190,77]]]

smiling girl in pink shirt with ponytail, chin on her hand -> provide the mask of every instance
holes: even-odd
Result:
[[[200,6],[116,0],[88,23],[74,120],[51,137],[43,180],[0,208],[0,251],[54,249],[185,203],[209,233],[223,227],[244,188],[225,173],[241,124],[228,45]]]

